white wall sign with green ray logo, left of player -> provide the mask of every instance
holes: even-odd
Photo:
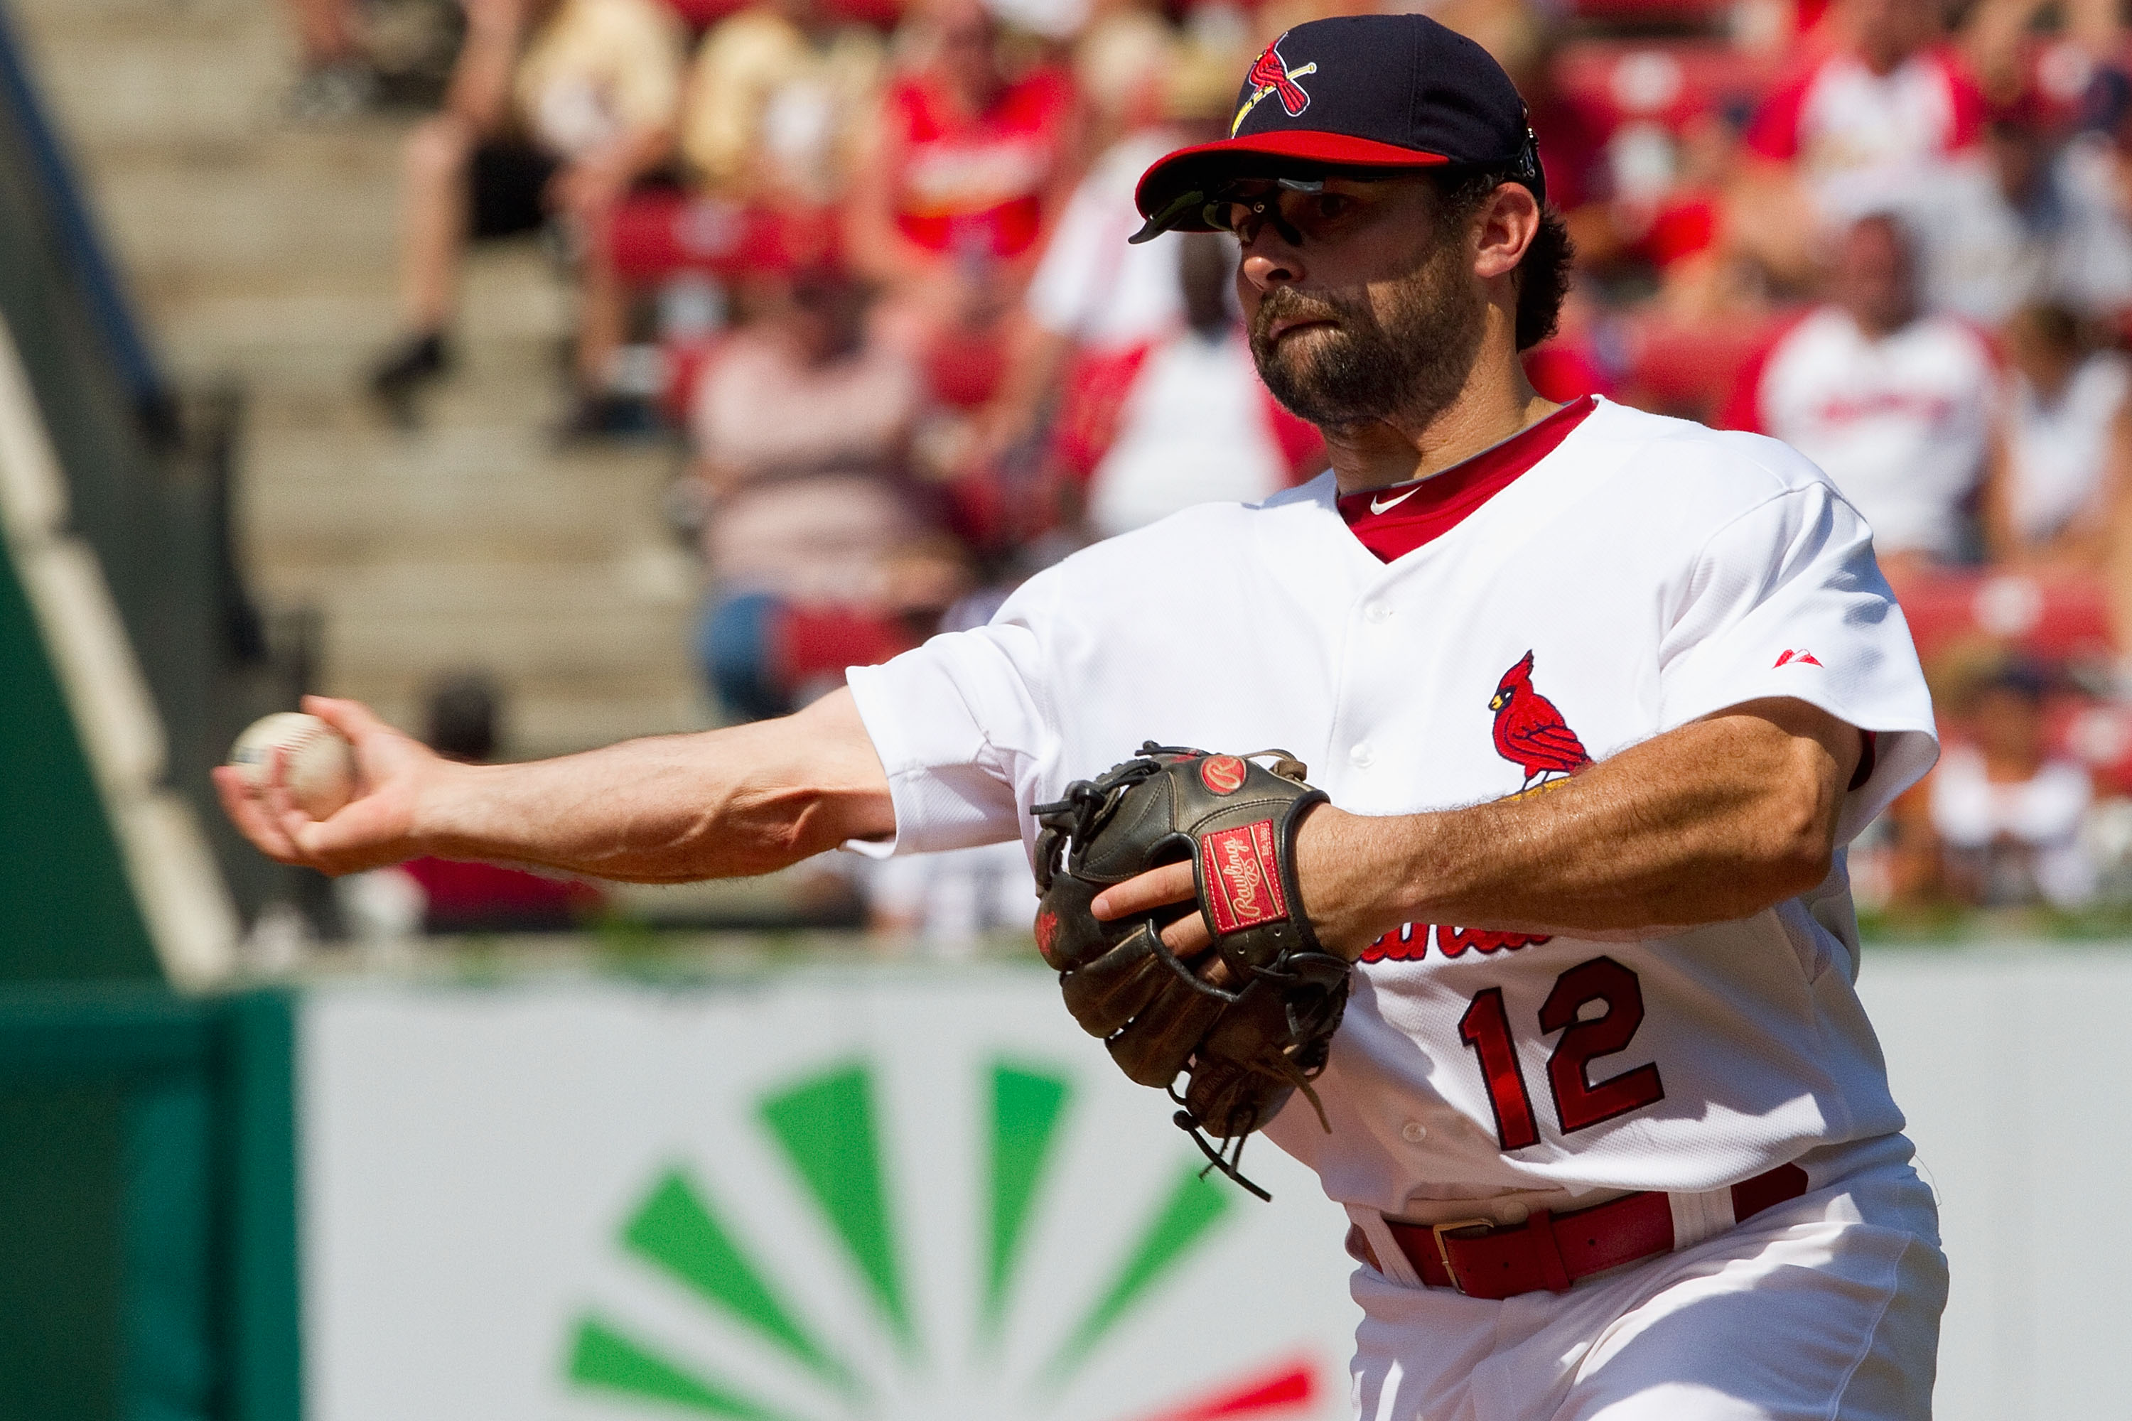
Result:
[[[352,986],[301,1018],[309,1421],[1345,1417],[1345,1216],[1038,969]]]

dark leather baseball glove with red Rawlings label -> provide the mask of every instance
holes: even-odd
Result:
[[[1126,1076],[1170,1093],[1177,1127],[1209,1170],[1260,1199],[1266,1191],[1237,1172],[1243,1140],[1298,1089],[1324,1125],[1311,1080],[1347,1006],[1347,961],[1318,944],[1296,891],[1296,829],[1326,803],[1305,773],[1286,750],[1239,756],[1147,741],[1136,758],[1034,807],[1036,946],[1060,974],[1066,1008]],[[1111,884],[1185,861],[1213,935],[1196,965],[1162,942],[1175,908],[1111,922],[1089,912]]]

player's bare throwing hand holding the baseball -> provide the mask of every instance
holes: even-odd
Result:
[[[305,697],[303,709],[354,746],[356,797],[328,818],[311,818],[290,797],[277,750],[258,793],[245,788],[237,769],[215,769],[215,790],[237,829],[269,859],[322,873],[354,873],[420,854],[422,797],[461,767],[394,731],[360,701]]]

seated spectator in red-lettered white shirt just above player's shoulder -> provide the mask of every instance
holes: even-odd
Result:
[[[1842,236],[1831,296],[1748,364],[1727,424],[1821,464],[1866,516],[1902,590],[1970,550],[1991,352],[1968,324],[1921,313],[1915,251],[1893,217],[1863,217]]]

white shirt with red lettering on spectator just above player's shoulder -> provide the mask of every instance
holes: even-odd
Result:
[[[1883,552],[1961,550],[1961,507],[1983,477],[1998,377],[1981,334],[1927,315],[1878,341],[1838,307],[1770,349],[1757,428],[1821,464]]]

